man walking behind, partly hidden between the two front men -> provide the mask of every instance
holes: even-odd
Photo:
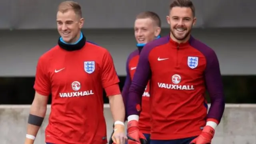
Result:
[[[136,16],[136,20],[134,22],[134,36],[137,41],[138,49],[134,50],[128,56],[126,62],[126,80],[124,87],[122,89],[122,96],[124,100],[124,104],[126,105],[128,90],[130,88],[132,78],[136,71],[136,66],[138,64],[140,52],[146,43],[160,38],[161,32],[161,20],[158,14],[154,12],[141,12]],[[144,134],[146,140],[150,141],[150,113],[149,113],[149,86],[144,88],[145,91],[142,94],[142,111],[140,113],[139,119],[139,129]],[[112,144],[110,142],[110,144]]]

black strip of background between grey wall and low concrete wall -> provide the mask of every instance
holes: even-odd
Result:
[[[120,76],[120,89],[124,86],[125,76]],[[34,77],[1,77],[0,104],[32,104],[34,98]],[[226,103],[256,103],[256,76],[222,76]],[[208,98],[208,102],[209,98]],[[51,103],[49,98],[48,104]],[[104,103],[108,98],[104,93]]]

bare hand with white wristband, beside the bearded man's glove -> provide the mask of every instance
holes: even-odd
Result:
[[[113,144],[125,144],[127,137],[124,130],[124,124],[114,124],[114,132],[111,139]]]

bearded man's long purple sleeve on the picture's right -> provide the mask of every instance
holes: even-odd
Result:
[[[211,106],[207,118],[213,118],[220,122],[225,108],[225,101],[218,58],[214,50],[202,42],[192,40],[191,46],[202,52],[206,58],[204,78],[206,82],[206,88],[211,100]]]

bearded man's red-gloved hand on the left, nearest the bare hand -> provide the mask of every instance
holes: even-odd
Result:
[[[128,122],[127,130],[128,144],[147,144],[145,136],[139,131],[137,120]]]

